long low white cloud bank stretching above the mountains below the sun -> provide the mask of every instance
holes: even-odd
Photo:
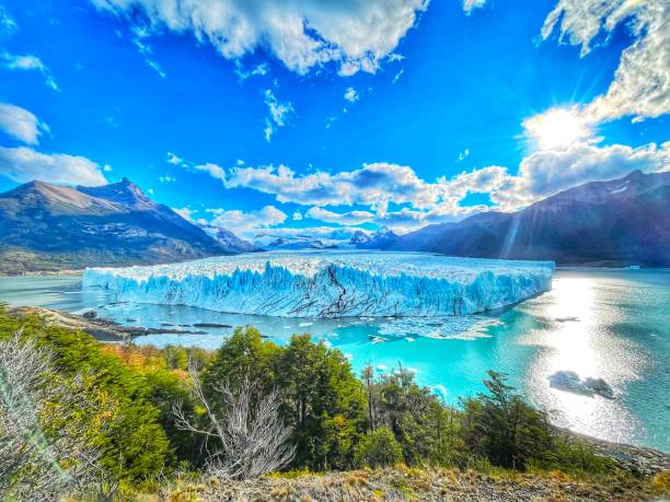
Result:
[[[304,213],[311,219],[347,226],[373,223],[400,232],[492,209],[517,210],[576,185],[624,176],[634,170],[670,170],[670,142],[632,148],[599,147],[597,141],[588,138],[536,151],[521,162],[517,174],[510,174],[505,166],[492,165],[434,182],[421,179],[409,166],[388,163],[365,164],[335,174],[323,171],[297,174],[284,165],[224,170],[204,164],[194,168],[208,172],[226,188],[249,188],[272,195],[280,203],[311,206]],[[462,206],[470,194],[487,195],[493,206]],[[389,210],[391,205],[394,210]],[[331,209],[347,206],[369,209],[344,212]],[[242,218],[241,213],[231,214]],[[302,218],[300,212],[293,213],[293,220]],[[251,226],[258,227],[256,223]]]

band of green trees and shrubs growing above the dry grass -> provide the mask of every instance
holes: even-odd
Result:
[[[400,462],[487,472],[499,467],[578,476],[621,472],[587,442],[559,434],[546,413],[496,372],[488,373],[485,393],[454,408],[400,365],[382,374],[368,366],[357,378],[339,351],[309,335],[278,346],[247,326],[236,328],[216,352],[157,349],[100,343],[36,315],[9,316],[0,306],[0,342],[8,343],[18,330],[21,343],[48,354],[48,371],[41,376],[48,385],[24,393],[34,406],[25,408],[25,422],[11,432],[16,416],[8,410],[20,407],[7,405],[8,389],[21,388],[10,385],[19,373],[0,371],[2,493],[19,497],[34,488],[32,476],[69,479],[57,485],[70,489],[83,479],[96,485],[97,493],[119,486],[125,497],[130,485],[155,483],[165,474],[172,479],[177,466],[177,476],[186,469],[197,477],[216,465],[215,474],[238,478],[281,468],[344,470]],[[0,357],[0,370],[11,363],[8,353]],[[26,437],[39,437],[38,444],[47,446],[42,451],[54,455],[49,465],[69,477],[49,478],[53,472],[38,451],[23,455],[30,466],[23,470],[2,464],[9,453],[21,457],[30,450]],[[90,468],[83,469],[84,463]]]

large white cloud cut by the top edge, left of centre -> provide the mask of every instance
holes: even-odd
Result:
[[[428,7],[428,0],[90,1],[128,20],[143,13],[154,32],[192,32],[227,59],[263,47],[298,73],[333,61],[344,75],[373,73]]]

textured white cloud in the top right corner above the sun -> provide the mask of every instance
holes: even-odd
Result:
[[[633,19],[633,22],[628,21]],[[581,109],[592,124],[633,116],[635,121],[670,112],[670,3],[667,0],[559,0],[542,27],[561,40],[591,50],[602,34],[627,23],[635,42],[621,56],[608,91]]]

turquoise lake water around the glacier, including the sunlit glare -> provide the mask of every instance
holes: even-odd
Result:
[[[122,324],[147,327],[253,324],[279,343],[291,334],[311,332],[342,350],[357,372],[368,362],[379,372],[402,363],[452,404],[482,390],[486,370],[496,370],[550,410],[559,425],[670,452],[670,271],[559,270],[552,291],[538,297],[487,315],[440,319],[287,319],[115,303],[108,291],[82,290],[77,276],[0,278],[0,302],[73,313],[95,310]],[[216,349],[232,329],[207,331],[136,342]],[[371,336],[388,341],[373,343]],[[615,399],[550,387],[547,376],[561,370],[604,378]]]

